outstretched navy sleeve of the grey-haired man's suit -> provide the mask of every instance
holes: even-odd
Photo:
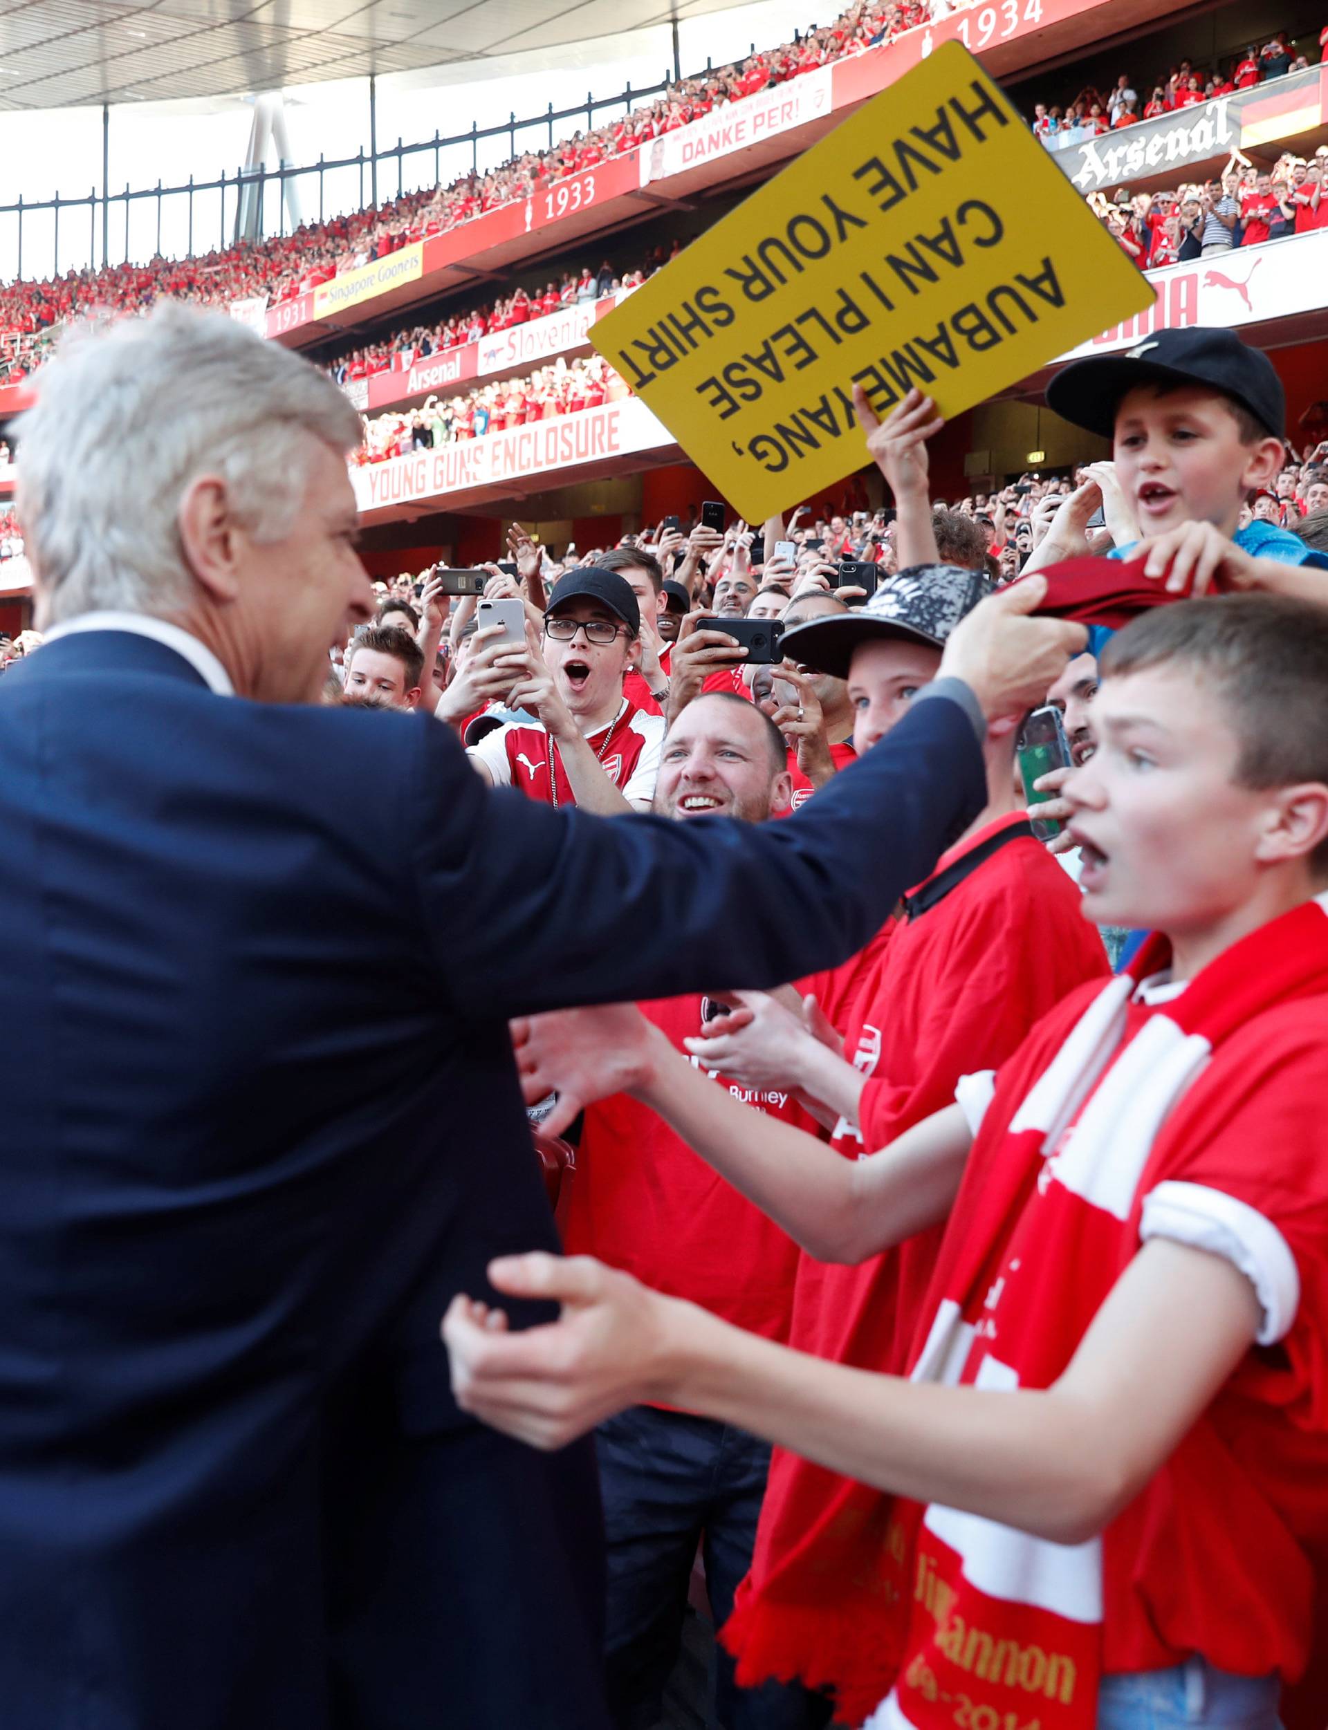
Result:
[[[957,702],[918,704],[784,822],[590,817],[488,791],[421,727],[407,823],[454,1012],[767,988],[855,953],[982,810]]]

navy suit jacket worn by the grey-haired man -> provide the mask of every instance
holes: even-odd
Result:
[[[835,964],[983,798],[944,701],[788,822],[674,823],[125,631],[10,670],[5,1730],[597,1730],[590,1450],[474,1424],[438,1339],[556,1247],[507,1017]]]

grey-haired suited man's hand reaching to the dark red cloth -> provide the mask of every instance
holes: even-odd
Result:
[[[1046,592],[1044,576],[1027,576],[978,602],[949,635],[937,676],[961,678],[989,721],[1035,709],[1087,644],[1082,625],[1028,618]]]

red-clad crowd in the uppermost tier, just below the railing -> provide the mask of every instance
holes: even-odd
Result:
[[[135,313],[164,298],[227,304],[267,294],[279,303],[315,289],[345,270],[384,258],[412,240],[445,234],[485,211],[608,157],[686,126],[724,102],[741,100],[800,73],[826,66],[873,43],[902,35],[932,16],[932,0],[854,0],[838,19],[753,54],[731,67],[684,78],[667,95],[549,151],[533,151],[488,173],[467,173],[450,187],[422,187],[379,208],[353,211],[322,223],[305,223],[291,235],[239,242],[206,256],[123,263],[68,272],[45,282],[14,282],[0,291],[0,336],[35,334],[66,318],[90,313]],[[0,382],[16,382],[29,367],[0,360]]]

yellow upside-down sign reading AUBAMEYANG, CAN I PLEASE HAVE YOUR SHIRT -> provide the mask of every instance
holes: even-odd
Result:
[[[590,327],[762,522],[867,460],[852,405],[945,417],[1153,304],[973,55],[947,42]]]

